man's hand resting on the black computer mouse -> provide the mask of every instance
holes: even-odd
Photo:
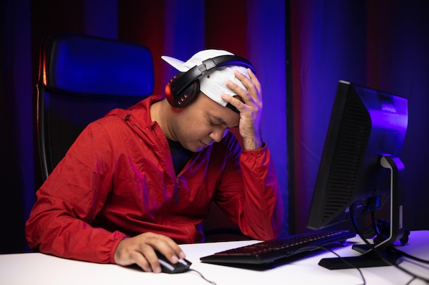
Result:
[[[160,273],[161,267],[155,250],[173,263],[177,263],[179,258],[185,258],[179,245],[168,236],[145,232],[123,239],[114,252],[114,262],[123,266],[135,263],[144,271]]]

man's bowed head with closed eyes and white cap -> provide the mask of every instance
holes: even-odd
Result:
[[[228,55],[228,64],[233,65],[216,66],[210,69],[211,58],[216,62],[219,59],[223,60],[224,55]],[[238,70],[249,78],[247,68],[251,68],[253,71],[251,64],[242,57],[234,57],[232,53],[219,50],[201,51],[193,55],[187,62],[172,57],[162,57],[162,59],[180,71],[179,78],[185,74],[184,72],[192,70],[195,66],[201,66],[203,62],[206,63],[206,66],[201,66],[201,69],[209,69],[200,72],[201,76],[194,80],[198,81],[198,86],[195,98],[191,98],[191,104],[184,104],[186,105],[184,107],[184,105],[175,106],[174,102],[172,104],[170,101],[168,103],[162,101],[162,110],[158,113],[154,112],[152,118],[160,124],[162,131],[169,139],[179,141],[188,150],[199,152],[207,146],[221,141],[229,128],[238,126],[240,115],[234,111],[235,107],[232,105],[233,108],[228,108],[227,102],[221,98],[221,94],[237,95],[227,87],[227,81],[235,83],[234,88],[247,90],[241,80],[236,78],[234,70]],[[207,59],[209,60],[207,61]],[[194,82],[191,85],[194,85]],[[166,89],[168,88],[167,86]],[[168,96],[167,94],[167,99]]]

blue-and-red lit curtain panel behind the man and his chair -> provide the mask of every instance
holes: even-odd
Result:
[[[154,55],[156,88],[175,73],[161,55],[183,60],[201,49],[247,57],[262,83],[262,136],[273,157],[287,217],[285,1],[262,0],[5,0],[1,1],[0,252],[27,249],[24,223],[42,184],[36,135],[38,53],[56,32],[144,44]],[[287,218],[283,234],[288,232]]]

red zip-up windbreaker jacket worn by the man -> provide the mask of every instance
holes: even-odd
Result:
[[[26,224],[30,247],[107,263],[119,241],[142,232],[195,243],[212,200],[244,234],[278,235],[282,198],[267,146],[242,152],[228,133],[176,176],[167,138],[150,120],[155,100],[115,109],[79,135],[36,193]]]

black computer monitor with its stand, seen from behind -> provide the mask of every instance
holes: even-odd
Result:
[[[406,98],[339,81],[307,227],[319,230],[348,219],[354,221],[390,201],[390,232],[371,248],[354,247],[362,255],[348,261],[358,267],[387,265],[374,258],[373,248],[384,253],[404,233],[404,165],[400,152],[407,126]],[[321,265],[350,268],[334,258],[323,260]]]

